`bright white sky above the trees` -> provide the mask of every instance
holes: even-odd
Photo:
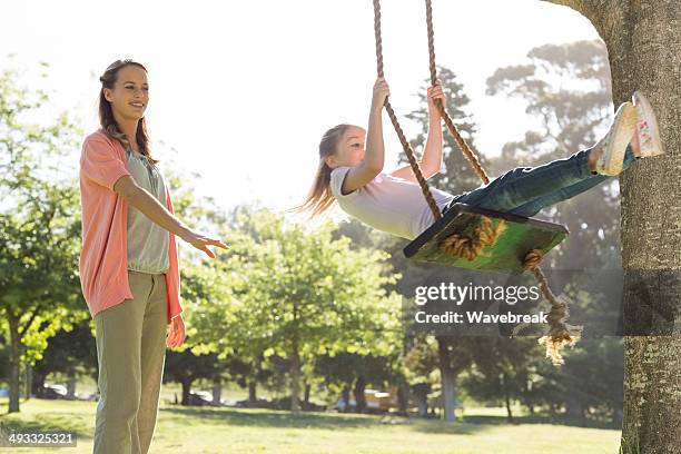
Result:
[[[485,79],[535,46],[598,38],[576,12],[536,0],[433,0],[433,9],[438,65],[464,83],[476,144],[490,155],[531,122],[522,103],[486,96]],[[384,0],[382,11],[391,99],[405,115],[428,77],[424,2]],[[2,6],[0,67],[16,53],[11,66],[32,82],[38,62],[49,62],[40,87],[92,131],[98,76],[135,58],[149,70],[157,157],[200,174],[191,184],[225,209],[255,199],[285,209],[312,182],[322,134],[366,124],[373,20],[371,0],[24,0]],[[393,167],[401,147],[384,125]]]

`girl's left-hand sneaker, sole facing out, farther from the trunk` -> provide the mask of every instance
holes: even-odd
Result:
[[[620,175],[626,146],[635,130],[636,109],[631,102],[624,102],[618,108],[608,134],[591,150],[595,154],[596,174],[611,177]]]

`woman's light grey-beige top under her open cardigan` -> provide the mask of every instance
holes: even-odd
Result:
[[[166,184],[157,166],[137,151],[126,149],[128,170],[135,182],[166,208]],[[170,236],[140,210],[128,205],[128,269],[164,274],[170,267]]]

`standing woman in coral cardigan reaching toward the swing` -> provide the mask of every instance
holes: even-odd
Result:
[[[172,214],[149,147],[145,67],[118,60],[100,81],[101,129],[86,138],[80,158],[79,268],[99,362],[95,453],[147,453],[158,413],[164,342],[176,347],[185,339],[175,236],[210,258],[208,246],[227,246],[191,231]]]

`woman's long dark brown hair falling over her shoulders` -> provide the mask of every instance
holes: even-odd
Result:
[[[100,76],[99,81],[101,82],[101,89],[99,90],[99,124],[101,129],[115,140],[118,140],[124,148],[129,147],[130,142],[124,132],[121,132],[116,119],[114,118],[114,110],[111,103],[105,98],[105,88],[114,89],[114,85],[118,80],[118,71],[127,66],[137,66],[147,72],[147,68],[142,63],[135,60],[116,60],[106,69],[103,75]],[[157,164],[158,160],[151,157],[151,148],[149,135],[147,132],[147,120],[145,117],[140,118],[137,122],[137,131],[135,134],[135,140],[139,147],[140,154],[142,154],[151,164]]]

